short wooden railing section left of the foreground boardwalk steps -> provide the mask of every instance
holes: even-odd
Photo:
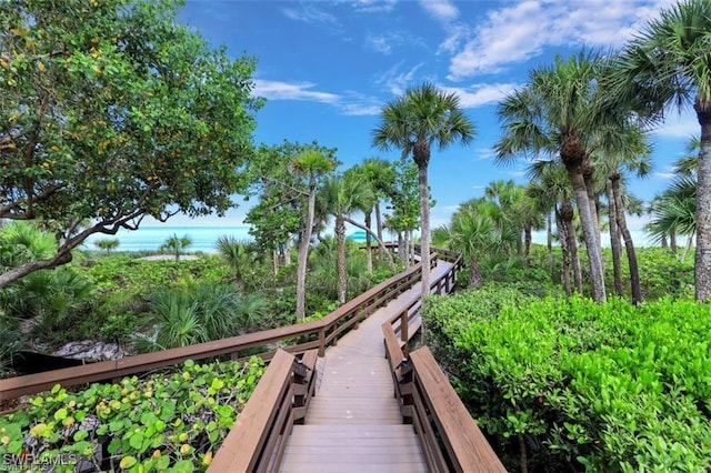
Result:
[[[277,351],[208,472],[279,471],[292,426],[313,395],[316,363],[316,350],[301,360]]]

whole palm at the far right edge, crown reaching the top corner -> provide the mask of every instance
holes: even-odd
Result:
[[[692,105],[701,127],[697,189],[695,296],[711,298],[711,2],[685,0],[647,23],[615,61],[615,100],[663,119],[668,105]]]

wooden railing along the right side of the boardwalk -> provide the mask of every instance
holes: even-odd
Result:
[[[461,268],[458,256],[448,273],[432,281],[434,292],[449,292]],[[382,332],[394,395],[403,421],[413,425],[420,439],[428,470],[505,472],[430,350],[422,346],[408,354],[409,322],[415,315],[420,319],[420,304],[419,299],[413,299],[401,313],[382,324]]]

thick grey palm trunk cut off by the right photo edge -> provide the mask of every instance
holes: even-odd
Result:
[[[694,109],[701,124],[701,150],[697,168],[694,279],[697,300],[705,302],[711,296],[711,103],[697,99]]]

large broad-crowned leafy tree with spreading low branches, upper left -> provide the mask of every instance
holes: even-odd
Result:
[[[60,243],[0,286],[93,233],[233,207],[261,105],[254,60],[212,50],[178,6],[0,2],[0,218],[41,220]]]

